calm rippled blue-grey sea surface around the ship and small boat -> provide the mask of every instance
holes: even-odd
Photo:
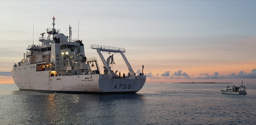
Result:
[[[0,84],[0,125],[255,125],[256,83],[146,83],[136,94],[19,91]],[[238,85],[236,85],[238,86]]]

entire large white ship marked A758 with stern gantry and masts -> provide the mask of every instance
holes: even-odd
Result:
[[[124,55],[124,48],[91,45],[91,49],[97,50],[104,65],[103,71],[100,71],[97,58],[85,56],[82,40],[71,39],[71,27],[69,26],[69,37],[65,36],[54,28],[54,20],[53,17],[53,28],[46,29],[48,36],[45,37],[45,33],[40,34],[41,44],[29,45],[23,59],[18,64],[15,63],[11,71],[14,82],[20,90],[136,93],[143,87],[146,76],[134,73]],[[118,76],[117,71],[111,70],[110,66],[114,63],[114,55],[110,55],[105,60],[101,52],[120,53],[130,76]],[[96,70],[91,68],[94,66]]]

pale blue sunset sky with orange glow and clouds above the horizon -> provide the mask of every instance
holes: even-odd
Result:
[[[125,48],[146,82],[256,82],[256,1],[0,1],[0,83],[39,34],[56,28],[91,44]],[[45,35],[46,36],[46,35]],[[40,42],[41,44],[41,42]],[[105,59],[109,56],[104,53]],[[128,73],[120,54],[112,69]],[[99,61],[101,70],[103,65]]]

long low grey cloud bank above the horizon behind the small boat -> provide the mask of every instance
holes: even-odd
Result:
[[[230,75],[219,75],[219,73],[215,72],[214,75],[209,75],[208,73],[202,73],[199,75],[204,75],[204,77],[197,77],[192,79],[239,79],[239,78],[256,78],[256,69],[253,69],[251,73],[247,74],[244,71],[240,71],[237,75],[235,73],[231,73]]]

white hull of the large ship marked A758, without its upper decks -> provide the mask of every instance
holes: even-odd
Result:
[[[136,93],[146,82],[146,76],[130,78],[110,78],[107,74],[47,76],[49,76],[49,71],[30,73],[12,71],[14,82],[20,90],[47,93]]]

